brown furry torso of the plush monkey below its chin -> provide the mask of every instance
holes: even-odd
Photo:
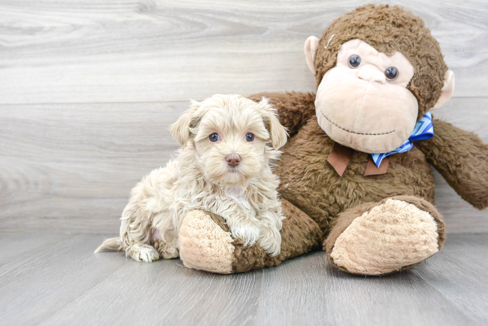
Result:
[[[276,95],[265,96],[276,100]],[[294,93],[288,96],[293,97]],[[279,110],[282,105],[285,104],[277,104],[276,108]],[[289,125],[284,118],[280,122]],[[368,177],[363,175],[369,154],[355,151],[341,177],[327,162],[333,145],[334,141],[318,125],[314,114],[282,148],[275,169],[281,178],[278,190],[281,196],[315,220],[324,231],[324,238],[339,213],[359,204],[398,195],[434,201],[432,169],[418,148],[391,155],[386,174]]]

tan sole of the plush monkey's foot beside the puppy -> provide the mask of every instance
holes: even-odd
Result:
[[[188,268],[215,273],[232,273],[234,239],[219,225],[213,214],[192,211],[180,228],[180,258]]]

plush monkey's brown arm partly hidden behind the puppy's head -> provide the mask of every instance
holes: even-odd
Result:
[[[315,114],[315,94],[312,93],[259,93],[249,96],[252,101],[261,101],[265,96],[278,110],[280,123],[293,136]]]

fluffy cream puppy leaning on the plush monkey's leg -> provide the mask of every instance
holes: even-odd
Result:
[[[287,133],[268,100],[214,95],[192,102],[171,133],[182,146],[177,157],[132,189],[121,236],[107,239],[95,252],[125,251],[143,262],[178,257],[183,219],[190,211],[206,210],[225,218],[244,244],[257,242],[278,255],[284,217],[270,160],[278,157]]]

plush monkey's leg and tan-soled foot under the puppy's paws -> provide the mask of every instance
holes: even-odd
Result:
[[[305,253],[322,242],[322,231],[305,213],[281,200],[286,218],[281,228],[281,253],[270,256],[257,244],[244,245],[233,238],[224,218],[205,211],[192,211],[180,228],[180,258],[188,268],[214,273],[239,273],[278,265]]]

